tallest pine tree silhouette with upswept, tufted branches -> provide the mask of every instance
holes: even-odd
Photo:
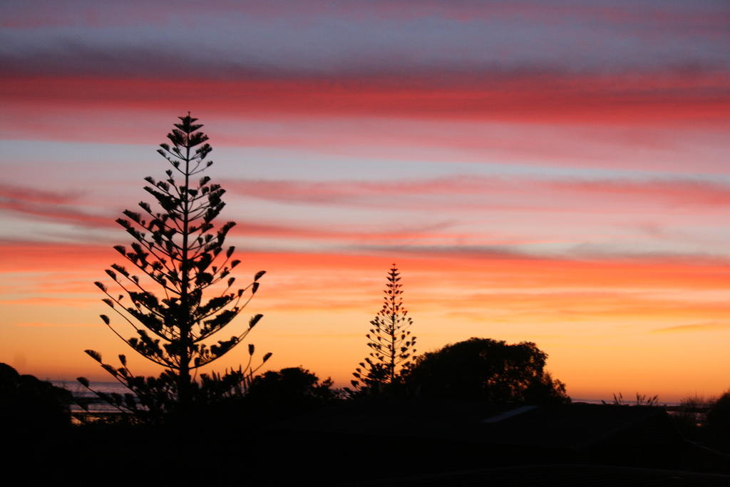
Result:
[[[207,160],[212,147],[196,120],[190,113],[180,117],[180,123],[175,123],[167,134],[170,143],[160,145],[158,153],[172,168],[166,170],[164,180],[145,178],[149,183],[145,191],[155,198],[156,207],[140,202],[142,212],[125,210],[126,218],[117,220],[134,242],[129,248],[117,245],[115,249],[136,269],[112,264],[106,270],[120,291],[94,283],[107,295],[103,301],[134,328],[137,336],[123,337],[107,315],[101,315],[102,321],[140,355],[164,367],[159,378],[137,377],[128,369],[126,356],[119,356],[121,367],[115,368],[104,364],[96,351],[86,350],[139,397],[141,404],[131,394],[99,394],[120,410],[185,413],[193,402],[227,394],[253,374],[249,358],[246,369],[239,368],[237,373],[224,377],[201,375],[201,383],[194,377],[197,369],[242,342],[261,319],[262,315],[255,315],[243,331],[210,344],[212,337],[250,302],[265,272],[257,272],[253,281],[242,288],[234,287],[236,278],[229,277],[239,261],[232,259],[234,247],[223,250],[223,245],[235,223],[213,223],[225,206],[221,199],[225,190],[210,183],[210,177],[198,176],[212,165]],[[159,297],[151,291],[153,288]],[[253,345],[249,345],[249,357],[253,351]],[[271,353],[263,361],[269,356]],[[79,380],[89,387],[84,377]]]

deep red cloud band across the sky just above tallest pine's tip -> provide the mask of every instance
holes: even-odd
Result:
[[[380,116],[520,123],[673,124],[727,120],[729,74],[722,71],[623,74],[555,72],[373,74],[227,80],[9,77],[0,99],[55,110],[168,110],[185,99],[223,115]]]

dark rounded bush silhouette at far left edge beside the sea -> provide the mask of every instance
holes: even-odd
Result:
[[[71,392],[0,364],[0,425],[8,432],[50,432],[71,424]]]

